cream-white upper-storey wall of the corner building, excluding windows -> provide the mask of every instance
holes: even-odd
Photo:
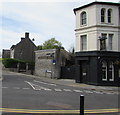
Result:
[[[101,23],[101,8],[109,8],[113,11],[112,23]],[[87,25],[80,25],[80,14],[85,11],[87,13]],[[107,14],[106,14],[107,15]],[[80,36],[87,35],[87,51],[100,50],[100,41],[98,37],[101,33],[114,34],[113,36],[113,50],[120,51],[120,29],[119,26],[119,8],[118,6],[111,5],[92,5],[87,8],[76,11],[76,48],[75,51],[79,52],[80,49]],[[108,43],[108,40],[106,40]]]

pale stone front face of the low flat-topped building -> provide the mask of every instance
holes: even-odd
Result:
[[[56,60],[56,49],[35,51],[35,75],[59,78],[60,66]]]

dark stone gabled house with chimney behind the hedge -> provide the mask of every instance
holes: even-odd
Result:
[[[22,37],[18,44],[12,45],[10,48],[10,58],[33,62],[35,60],[35,50],[37,50],[37,47],[29,38],[29,33],[26,32],[25,37]]]

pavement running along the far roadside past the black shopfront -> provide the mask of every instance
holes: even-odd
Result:
[[[11,73],[14,73],[14,72],[11,72]],[[21,75],[23,73],[16,73],[16,74]],[[39,76],[35,76],[35,75],[28,75],[28,74],[24,74],[24,75],[32,77],[37,80],[45,81],[45,82],[50,82],[50,83],[65,85],[65,86],[71,86],[71,87],[77,87],[77,88],[82,88],[85,90],[120,93],[120,88],[115,87],[115,86],[95,86],[95,85],[88,85],[88,84],[84,84],[84,83],[76,83],[74,79],[51,79],[48,77],[39,77]]]

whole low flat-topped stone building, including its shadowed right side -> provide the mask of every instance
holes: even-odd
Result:
[[[35,51],[35,74],[37,76],[60,78],[61,67],[68,65],[71,55],[64,49]]]

